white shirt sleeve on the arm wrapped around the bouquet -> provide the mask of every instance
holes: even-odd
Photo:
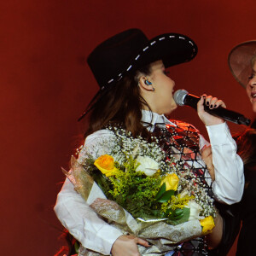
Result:
[[[100,131],[89,136],[84,145],[94,151],[95,154],[102,150],[108,151],[108,148],[96,148],[96,140],[108,136],[108,132]],[[81,157],[83,157],[83,153],[79,155],[79,160]],[[70,234],[80,241],[83,247],[92,251],[109,255],[113,242],[123,235],[119,230],[98,217],[96,212],[73,189],[73,184],[67,178],[57,196],[54,210],[57,218]]]

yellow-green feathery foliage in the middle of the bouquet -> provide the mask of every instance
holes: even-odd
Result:
[[[137,163],[131,157],[123,166],[125,170],[119,169],[117,175],[108,177],[113,187],[109,189],[109,194],[134,218],[156,216],[159,211],[155,210],[160,209],[160,204],[155,201],[155,195],[160,188],[160,175],[156,173],[148,177],[143,172],[136,172]],[[117,167],[120,166],[117,164]],[[103,191],[105,192],[105,189]]]

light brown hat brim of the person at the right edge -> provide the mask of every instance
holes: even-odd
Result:
[[[253,55],[256,55],[256,40],[236,45],[228,57],[231,73],[244,88],[246,88],[248,78],[252,73],[251,60]]]

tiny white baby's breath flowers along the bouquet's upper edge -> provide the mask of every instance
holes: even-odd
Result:
[[[102,140],[98,143],[97,148],[106,148],[107,143],[108,154],[112,155],[119,165],[129,157],[132,157],[138,162],[137,171],[144,172],[147,176],[154,175],[159,169],[162,176],[167,173],[176,173],[179,178],[177,193],[181,197],[183,195],[195,196],[194,202],[190,203],[193,208],[191,216],[198,215],[197,217],[201,218],[201,216],[212,215],[215,217],[213,199],[208,195],[207,188],[201,183],[201,179],[195,177],[195,174],[184,165],[183,160],[177,160],[172,156],[166,160],[166,154],[159,147],[157,138],[152,137],[154,142],[148,143],[143,137],[131,137],[131,132],[124,129],[108,127],[108,130],[112,133],[109,142]],[[79,151],[83,153],[83,157],[80,158],[79,162],[85,165],[86,159],[91,158],[90,150],[88,151],[88,148],[79,148]],[[196,213],[195,209],[197,209]]]

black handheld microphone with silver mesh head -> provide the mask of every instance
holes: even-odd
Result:
[[[189,106],[191,108],[197,109],[197,102],[199,102],[200,97],[189,94],[187,90],[176,90],[173,95],[174,101],[178,106]],[[236,123],[237,125],[250,125],[251,120],[247,119],[241,113],[229,110],[219,106],[218,108],[209,108],[204,103],[204,109],[207,113],[210,113],[218,118]]]

